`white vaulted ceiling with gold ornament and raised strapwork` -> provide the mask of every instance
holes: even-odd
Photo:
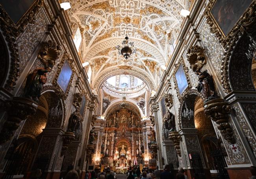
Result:
[[[181,9],[189,0],[69,0],[71,28],[82,32],[80,56],[92,68],[92,87],[115,74],[132,74],[156,89],[167,64],[169,45],[180,32]],[[115,46],[128,37],[137,53],[128,61]],[[114,74],[115,73],[115,74]],[[102,81],[102,79],[104,79]]]

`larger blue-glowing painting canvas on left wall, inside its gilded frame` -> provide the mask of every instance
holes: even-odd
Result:
[[[62,67],[62,70],[59,74],[59,78],[57,80],[59,86],[64,92],[66,92],[67,87],[69,86],[69,81],[71,76],[72,76],[72,69],[70,68],[69,63],[65,61]]]

